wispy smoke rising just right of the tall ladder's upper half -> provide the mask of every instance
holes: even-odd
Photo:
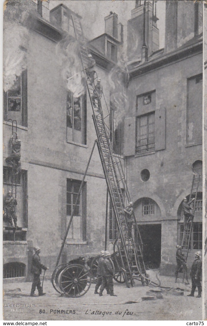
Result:
[[[119,125],[128,111],[126,86],[128,83],[126,48],[119,51],[118,62],[109,73],[110,101],[114,111],[114,128]]]

